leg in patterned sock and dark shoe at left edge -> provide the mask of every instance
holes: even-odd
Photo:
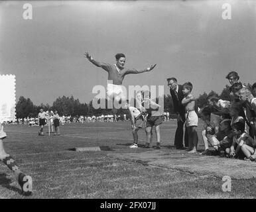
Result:
[[[7,134],[3,131],[3,125],[0,123],[0,160],[15,174],[15,178],[17,179],[21,189],[23,191],[23,195],[31,195],[32,194],[32,178],[31,176],[26,176],[19,170],[15,160],[12,156],[5,152],[5,148],[3,148],[3,139],[7,137]]]

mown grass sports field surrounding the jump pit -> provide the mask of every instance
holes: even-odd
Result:
[[[162,151],[174,144],[176,122],[161,125]],[[45,127],[47,130],[47,127]],[[200,132],[199,149],[203,148]],[[71,123],[60,126],[60,136],[38,136],[38,127],[5,127],[6,151],[33,179],[33,195],[23,197],[13,173],[0,164],[0,198],[255,198],[255,179],[232,180],[231,192],[222,191],[221,178],[178,170],[145,166],[107,156],[110,152],[145,152],[130,149],[133,142],[129,121],[118,123]],[[155,138],[155,133],[154,133]],[[154,139],[155,140],[155,139]],[[145,132],[139,132],[139,144]],[[70,149],[107,146],[101,151]]]

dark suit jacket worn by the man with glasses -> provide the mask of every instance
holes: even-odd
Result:
[[[182,99],[184,98],[184,94],[182,92],[182,85],[178,85],[178,99],[176,97],[175,91],[173,91],[172,89],[170,89],[170,95],[172,96],[174,112],[179,113],[183,119],[185,115],[185,107],[181,103]]]

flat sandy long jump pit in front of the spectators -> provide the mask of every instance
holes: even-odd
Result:
[[[111,158],[139,162],[145,165],[170,168],[181,172],[214,176],[222,178],[229,176],[232,179],[244,180],[256,178],[256,162],[220,158],[219,156],[201,156],[189,154],[185,151],[153,150],[138,153],[111,153]]]

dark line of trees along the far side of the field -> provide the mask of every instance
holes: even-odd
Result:
[[[248,83],[247,87],[251,87]],[[210,91],[210,93],[202,93],[196,99],[196,105],[200,108],[207,105],[207,97],[208,95],[216,95],[220,97],[220,99],[230,101],[229,97],[229,86],[226,85],[222,90],[222,93],[218,95],[216,91]],[[105,100],[107,101],[107,100]],[[107,103],[106,103],[107,105]],[[52,105],[41,103],[40,105],[34,105],[30,98],[25,98],[23,96],[19,97],[19,101],[16,104],[16,116],[17,118],[27,118],[27,117],[37,117],[39,110],[44,109],[44,111],[58,111],[59,115],[71,115],[72,117],[84,115],[84,116],[92,116],[92,115],[108,115],[108,114],[117,114],[123,115],[128,114],[126,109],[94,109],[92,106],[92,101],[89,103],[80,103],[79,99],[75,99],[73,95],[71,97],[58,97]],[[172,113],[174,110],[172,97],[170,95],[164,95],[164,111],[169,111]]]

